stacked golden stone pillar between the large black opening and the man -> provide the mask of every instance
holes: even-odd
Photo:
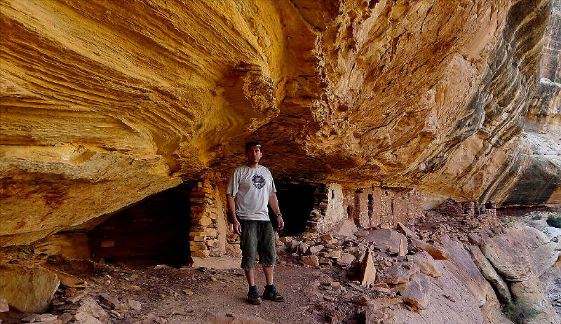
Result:
[[[191,257],[208,257],[218,240],[215,189],[210,180],[200,180],[191,190]]]

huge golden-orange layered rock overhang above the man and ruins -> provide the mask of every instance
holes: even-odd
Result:
[[[503,192],[551,4],[4,1],[0,245],[227,176],[249,139],[279,180]]]

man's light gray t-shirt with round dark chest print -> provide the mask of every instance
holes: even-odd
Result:
[[[269,220],[269,196],[275,193],[275,182],[268,168],[238,166],[230,177],[227,194],[234,196],[236,215],[240,220]]]

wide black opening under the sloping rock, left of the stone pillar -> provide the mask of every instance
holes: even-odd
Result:
[[[182,184],[128,208],[88,233],[94,258],[180,267],[189,258],[189,187]]]

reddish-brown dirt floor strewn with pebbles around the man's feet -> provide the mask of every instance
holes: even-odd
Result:
[[[262,271],[258,271],[256,284],[262,290],[264,278]],[[275,284],[287,301],[264,301],[259,306],[245,302],[248,285],[241,269],[107,266],[86,280],[91,282],[89,292],[93,295],[105,292],[121,300],[130,298],[140,302],[140,311],[123,316],[131,322],[159,317],[167,323],[207,323],[216,317],[220,323],[221,315],[229,314],[226,317],[257,316],[273,323],[325,323],[340,307],[323,299],[318,283],[338,281],[337,272],[293,264],[277,266]],[[133,280],[127,280],[131,276]],[[127,285],[137,285],[141,290],[126,290],[123,287]],[[113,319],[113,323],[120,322]]]

